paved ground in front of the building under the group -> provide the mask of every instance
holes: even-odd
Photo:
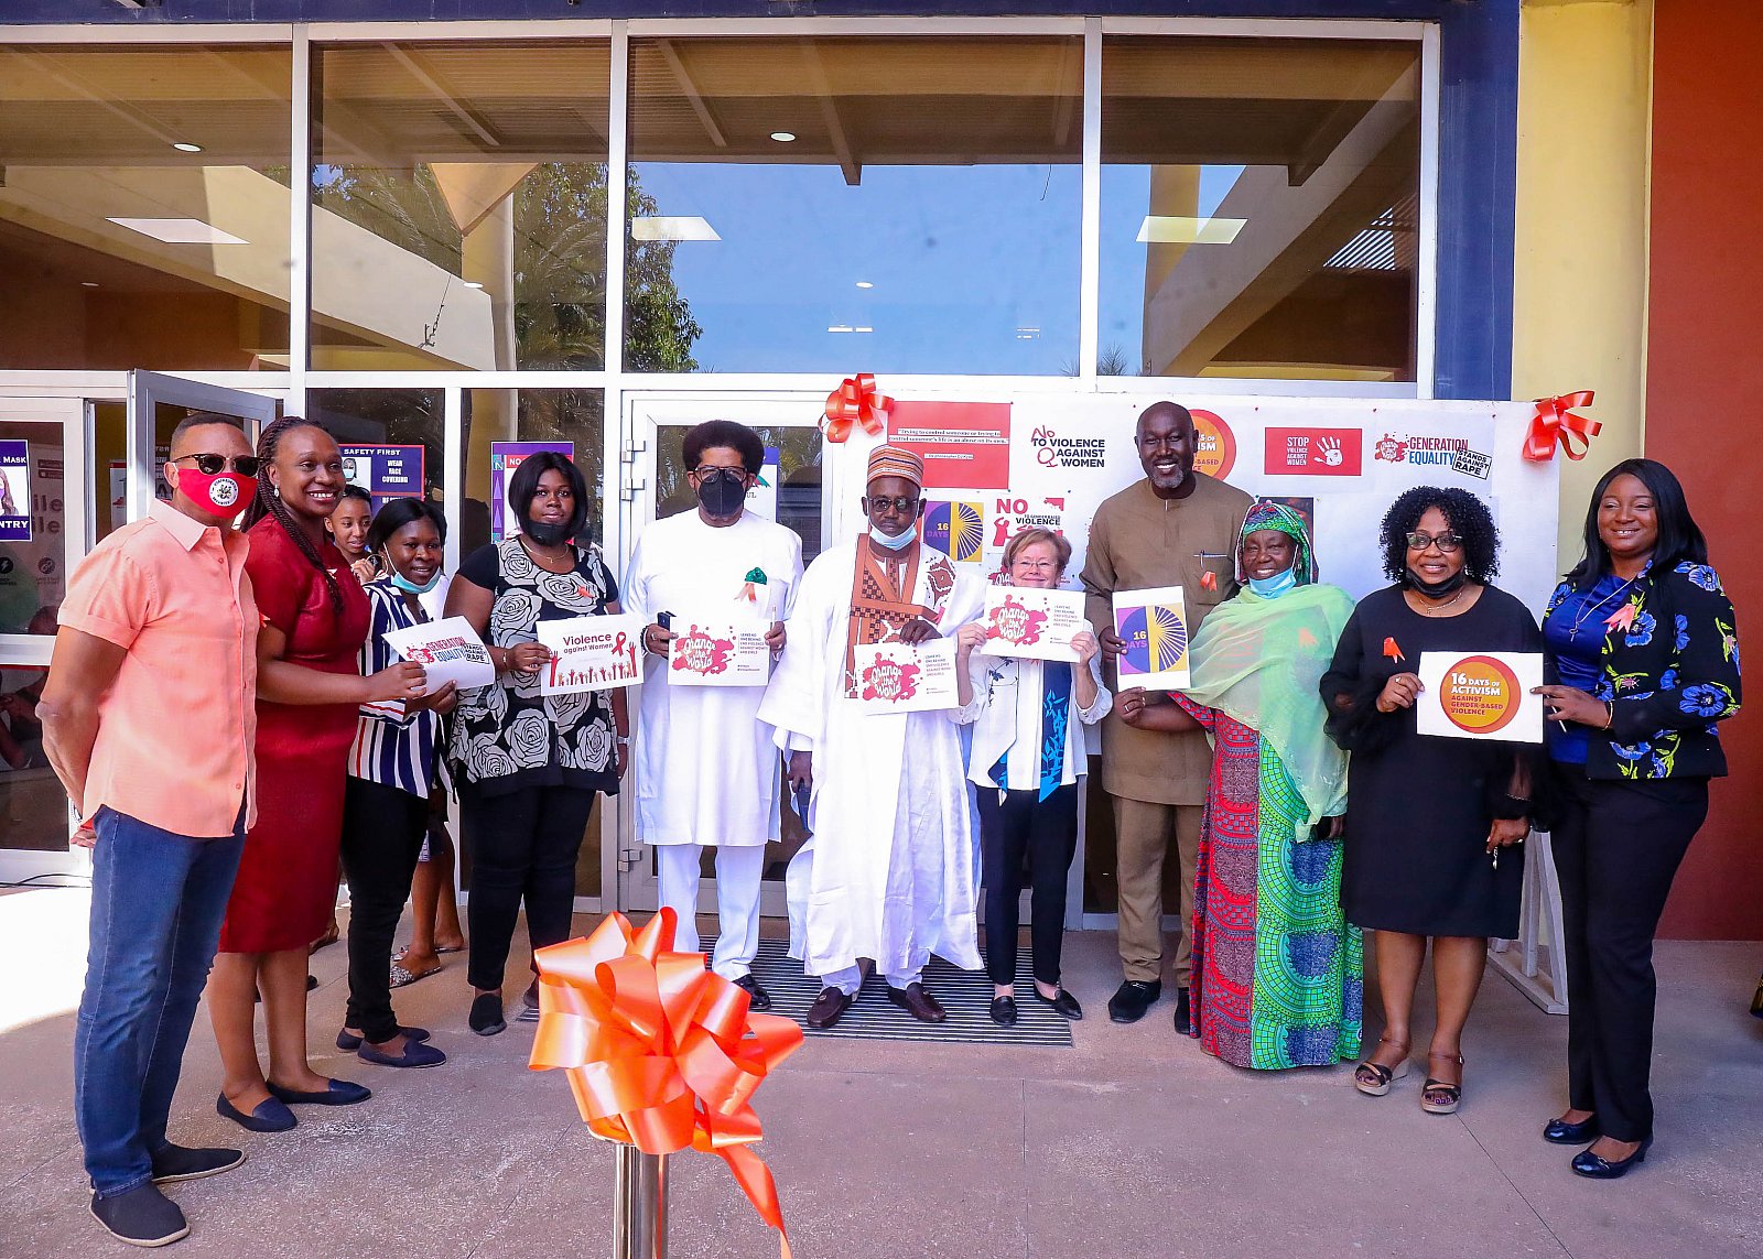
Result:
[[[127,1254],[85,1213],[69,1113],[83,913],[78,892],[0,896],[0,1255]],[[1661,947],[1661,1132],[1618,1183],[1573,1176],[1573,1151],[1537,1136],[1562,1102],[1566,1021],[1499,977],[1470,1024],[1463,1109],[1439,1118],[1419,1109],[1417,1074],[1368,1099],[1347,1069],[1225,1067],[1176,1039],[1167,1000],[1135,1026],[1109,1024],[1109,945],[1067,945],[1093,1016],[1072,1049],[823,1040],[797,1053],[756,1099],[795,1254],[1763,1254],[1763,1023],[1745,1014],[1759,945]],[[215,1116],[219,1067],[197,1021],[175,1136],[243,1144],[250,1162],[171,1190],[194,1225],[175,1254],[610,1250],[610,1151],[562,1079],[524,1070],[532,1024],[490,1040],[465,1030],[464,965],[450,961],[404,991],[400,1016],[434,1028],[453,1062],[397,1072],[328,1049],[342,949],[314,959],[317,1062],[376,1097],[301,1107],[284,1136]],[[719,1160],[684,1155],[672,1174],[673,1259],[776,1254]]]

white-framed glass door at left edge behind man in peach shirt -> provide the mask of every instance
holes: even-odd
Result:
[[[83,399],[0,397],[0,880],[90,869],[71,848],[72,808],[42,751],[67,573],[90,547]]]

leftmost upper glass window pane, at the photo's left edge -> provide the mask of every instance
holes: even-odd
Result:
[[[0,48],[0,367],[286,367],[289,83],[286,48]]]

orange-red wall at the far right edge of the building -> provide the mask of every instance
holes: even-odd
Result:
[[[1731,778],[1663,936],[1763,938],[1763,5],[1654,9],[1647,453],[1684,480],[1754,661],[1722,726]]]

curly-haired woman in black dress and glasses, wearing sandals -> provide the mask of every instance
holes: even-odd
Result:
[[[1456,1111],[1462,1035],[1488,936],[1518,935],[1532,756],[1518,744],[1416,734],[1423,651],[1541,651],[1536,619],[1488,585],[1499,533],[1474,494],[1423,485],[1389,508],[1384,571],[1395,585],[1354,610],[1322,675],[1328,732],[1352,753],[1340,899],[1375,931],[1384,1035],[1354,1084],[1382,1097],[1409,1072],[1414,987],[1433,945],[1437,1021],[1421,1107]]]

